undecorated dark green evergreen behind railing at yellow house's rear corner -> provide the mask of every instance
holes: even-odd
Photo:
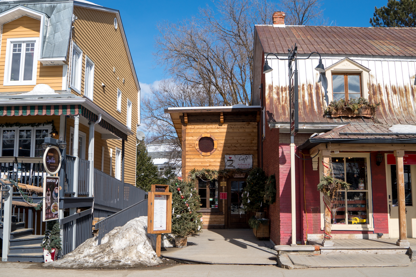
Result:
[[[147,155],[146,144],[140,141],[137,146],[136,187],[150,191],[152,184],[164,183],[160,178],[152,158]]]

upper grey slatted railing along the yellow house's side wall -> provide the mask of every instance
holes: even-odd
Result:
[[[94,168],[94,205],[98,205],[98,209],[123,210],[144,200],[145,193]]]

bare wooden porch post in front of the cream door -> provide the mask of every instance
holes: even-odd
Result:
[[[397,176],[397,202],[399,204],[399,240],[396,245],[410,246],[406,235],[406,203],[404,196],[404,172],[403,172],[403,150],[395,150],[396,176]]]

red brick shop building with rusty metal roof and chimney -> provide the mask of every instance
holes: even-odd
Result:
[[[406,233],[416,237],[416,29],[286,26],[284,13],[273,18],[274,25],[255,26],[252,103],[262,109],[259,165],[277,181],[270,239],[286,245],[293,233],[298,244],[324,237],[325,202],[317,184],[332,172],[351,184],[332,207],[332,238],[400,236],[398,243],[406,244]],[[297,58],[304,59],[297,61],[292,195],[289,72],[280,59],[295,44]],[[318,54],[305,59],[312,52],[322,56],[325,72],[314,70]],[[273,71],[263,74],[267,54]],[[375,114],[326,111],[331,101],[361,97],[380,104]]]

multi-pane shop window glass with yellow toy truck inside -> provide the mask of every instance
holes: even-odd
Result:
[[[334,177],[350,184],[339,190],[332,210],[332,224],[369,224],[369,177],[366,157],[331,158]]]

